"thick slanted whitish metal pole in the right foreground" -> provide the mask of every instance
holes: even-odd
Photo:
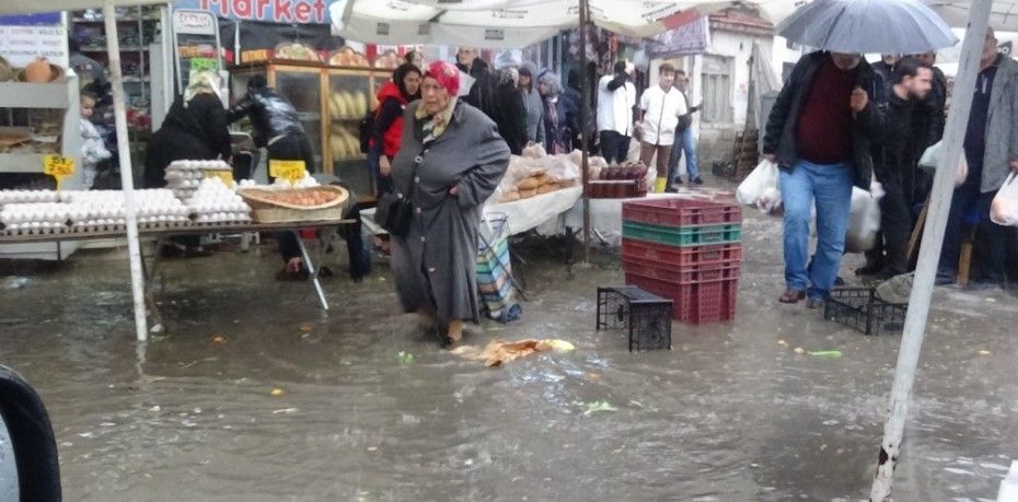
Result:
[[[887,501],[891,498],[892,477],[901,441],[909,415],[909,399],[912,384],[915,382],[915,369],[919,362],[923,337],[926,334],[926,320],[929,314],[929,300],[933,295],[934,279],[940,259],[944,232],[955,192],[955,173],[962,154],[962,141],[972,108],[972,94],[975,91],[975,78],[979,73],[980,55],[990,9],[993,0],[973,0],[969,10],[969,26],[961,45],[961,60],[958,63],[958,79],[951,100],[951,113],[947,118],[944,132],[944,155],[937,164],[934,177],[933,196],[929,199],[929,212],[924,227],[923,244],[919,247],[919,260],[915,268],[912,295],[909,299],[909,314],[905,317],[901,348],[898,351],[898,367],[894,370],[894,386],[891,388],[891,401],[888,421],[883,428],[883,442],[877,464],[877,476],[870,491],[870,501]]]

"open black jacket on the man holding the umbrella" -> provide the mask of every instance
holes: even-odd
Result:
[[[806,106],[806,98],[809,96],[817,69],[820,68],[824,58],[830,57],[829,52],[820,51],[802,56],[771,109],[763,152],[777,156],[777,164],[782,170],[790,172],[799,161],[796,138],[799,116],[802,114],[802,107]],[[856,114],[852,124],[853,180],[857,187],[868,190],[874,172],[870,143],[877,141],[884,127],[884,113],[875,100],[875,96],[882,94],[883,83],[864,59],[859,62],[856,84],[869,95],[869,104],[863,112]]]

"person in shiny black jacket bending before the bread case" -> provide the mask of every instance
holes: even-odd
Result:
[[[230,122],[244,117],[251,118],[254,128],[252,137],[255,147],[268,151],[268,162],[303,161],[309,173],[316,173],[317,165],[311,141],[304,133],[304,126],[300,122],[297,109],[282,97],[275,89],[268,86],[263,75],[254,75],[247,81],[247,94],[236,103],[228,113]],[[304,279],[300,246],[292,232],[281,232],[276,235],[279,242],[279,254],[286,264],[279,273],[279,279]]]

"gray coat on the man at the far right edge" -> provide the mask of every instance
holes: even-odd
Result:
[[[998,190],[1010,172],[1008,161],[1013,160],[1018,160],[1018,61],[1002,56],[990,90],[980,191]]]

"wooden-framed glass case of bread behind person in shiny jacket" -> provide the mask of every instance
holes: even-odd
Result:
[[[247,80],[265,75],[269,85],[301,114],[321,171],[348,183],[360,200],[372,200],[374,178],[360,151],[360,121],[378,108],[378,90],[390,69],[334,67],[313,61],[274,59],[245,63],[230,71],[231,96],[247,92]],[[241,129],[250,125],[240,126]]]

